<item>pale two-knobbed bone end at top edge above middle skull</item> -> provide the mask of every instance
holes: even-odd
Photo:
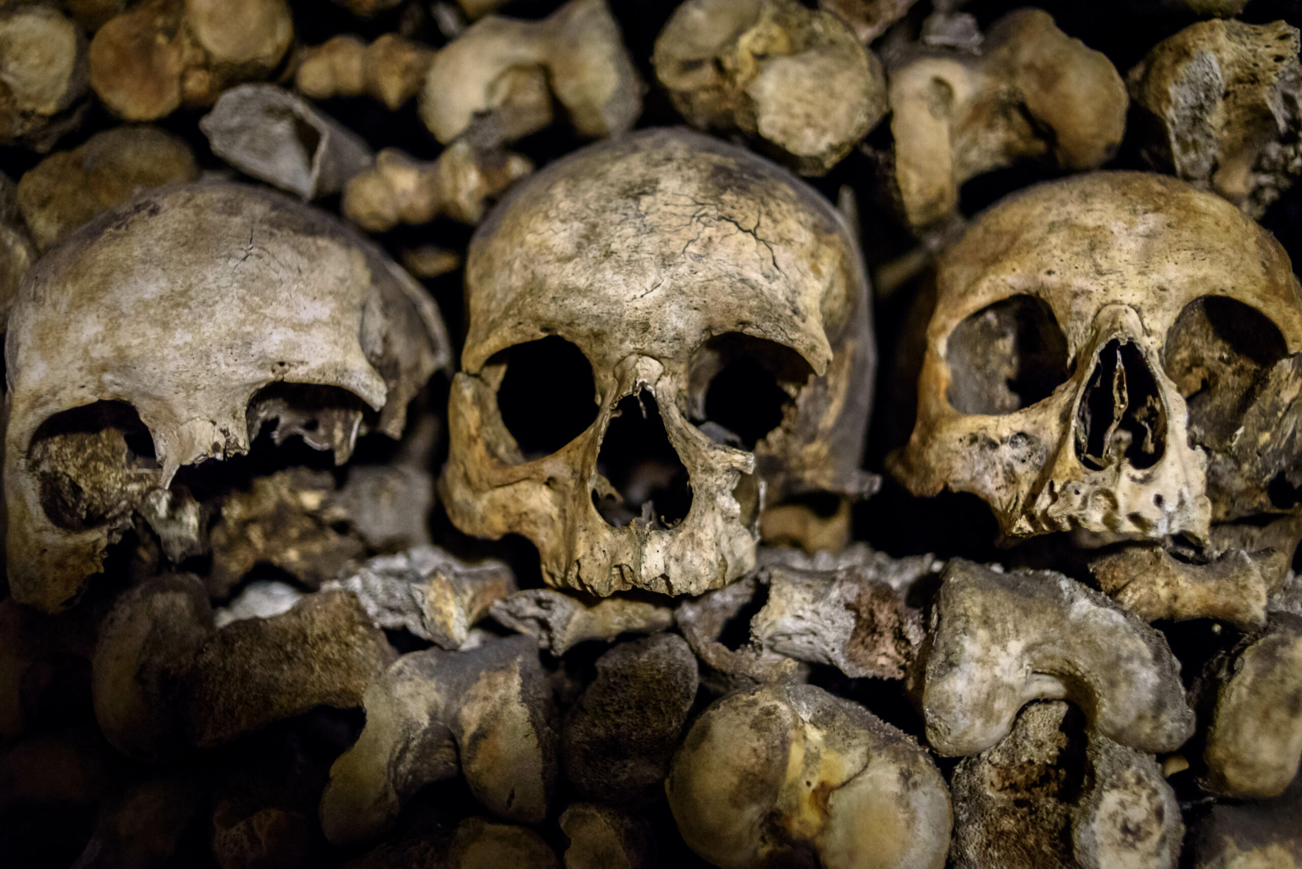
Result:
[[[443,143],[474,125],[493,143],[552,122],[551,96],[579,135],[628,130],[644,86],[605,0],[570,0],[543,21],[488,16],[441,48],[421,92],[421,118]]]

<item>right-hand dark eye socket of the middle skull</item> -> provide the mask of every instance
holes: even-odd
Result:
[[[754,450],[783,424],[814,369],[798,353],[740,332],[706,341],[687,369],[687,416],[711,440]]]

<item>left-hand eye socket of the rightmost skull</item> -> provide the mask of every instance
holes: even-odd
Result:
[[[954,327],[945,342],[945,398],[961,414],[1004,415],[1044,401],[1072,375],[1066,336],[1032,295],[990,304]]]

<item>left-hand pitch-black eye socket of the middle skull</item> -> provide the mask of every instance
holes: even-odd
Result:
[[[583,351],[551,336],[495,354],[505,366],[497,412],[526,462],[551,455],[596,420],[596,381]]]

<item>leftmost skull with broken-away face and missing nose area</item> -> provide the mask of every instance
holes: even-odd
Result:
[[[367,431],[397,437],[447,355],[415,281],[279,194],[171,186],[102,215],[27,272],[9,320],[13,596],[69,605],[137,516],[198,535],[173,477],[247,453],[264,421],[336,464]]]

